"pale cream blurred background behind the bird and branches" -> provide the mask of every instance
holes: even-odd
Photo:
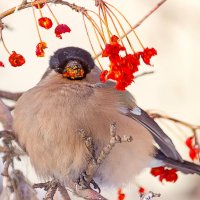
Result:
[[[92,0],[70,0],[86,8],[93,9]],[[134,25],[158,0],[110,0]],[[20,0],[0,0],[0,12],[20,4]],[[0,68],[0,89],[12,92],[26,91],[33,87],[48,67],[49,56],[65,46],[79,46],[92,53],[82,17],[70,8],[51,5],[60,23],[71,28],[70,34],[60,40],[54,30],[41,30],[42,38],[48,44],[44,58],[35,56],[35,46],[39,42],[31,8],[17,11],[3,19],[8,29],[3,31],[5,43],[10,51],[26,57],[26,64],[13,68],[8,62],[8,54],[0,43],[0,60],[5,68]],[[95,9],[95,8],[94,8]],[[50,16],[46,8],[44,15]],[[138,105],[144,109],[155,109],[191,124],[200,124],[200,1],[167,1],[141,26],[136,29],[144,46],[154,47],[158,55],[152,59],[154,67],[142,66],[141,70],[154,70],[154,74],[136,79],[128,89],[135,96]],[[102,61],[104,63],[104,61]],[[162,125],[162,124],[161,124]],[[165,127],[164,127],[165,128]],[[188,149],[177,139],[177,133],[166,130],[185,159],[189,159]],[[179,132],[178,134],[182,134]],[[189,136],[191,133],[184,133]],[[17,163],[33,183],[40,180],[34,174],[29,160]],[[197,200],[200,198],[200,177],[181,175],[173,183],[160,183],[149,174],[149,169],[137,177],[137,184],[147,190],[161,193],[162,200]],[[134,182],[123,188],[127,200],[139,199]],[[109,199],[117,199],[117,191],[103,189]],[[41,198],[42,199],[42,198]]]

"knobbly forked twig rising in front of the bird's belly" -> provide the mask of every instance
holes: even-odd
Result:
[[[84,173],[82,173],[79,179],[75,182],[69,184],[69,187],[74,190],[74,192],[84,199],[90,200],[105,200],[103,196],[100,195],[100,187],[95,183],[93,177],[95,176],[98,168],[103,163],[105,158],[110,154],[113,147],[118,143],[131,142],[133,138],[131,136],[119,136],[116,134],[116,123],[112,123],[110,126],[110,141],[102,150],[99,155],[96,155],[93,138],[88,136],[87,132],[83,129],[78,130],[78,134],[81,136],[88,150],[89,160],[88,165]],[[93,190],[90,186],[93,185]]]

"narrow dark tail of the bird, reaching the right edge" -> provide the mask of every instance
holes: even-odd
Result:
[[[177,169],[184,174],[200,175],[200,165],[183,160],[183,162],[166,157],[160,150],[157,150],[155,158],[161,160],[167,167]]]

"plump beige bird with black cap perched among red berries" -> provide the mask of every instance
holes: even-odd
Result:
[[[77,130],[84,130],[99,154],[110,140],[110,124],[133,141],[116,145],[98,168],[98,184],[119,187],[134,179],[152,160],[183,173],[200,175],[200,166],[184,161],[172,140],[140,108],[130,92],[100,81],[101,70],[79,47],[58,49],[39,83],[14,109],[13,129],[37,175],[63,183],[78,180],[90,153]]]

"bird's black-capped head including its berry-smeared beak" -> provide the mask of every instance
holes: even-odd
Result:
[[[85,78],[94,66],[90,53],[78,47],[59,49],[50,58],[50,68],[72,80]]]

